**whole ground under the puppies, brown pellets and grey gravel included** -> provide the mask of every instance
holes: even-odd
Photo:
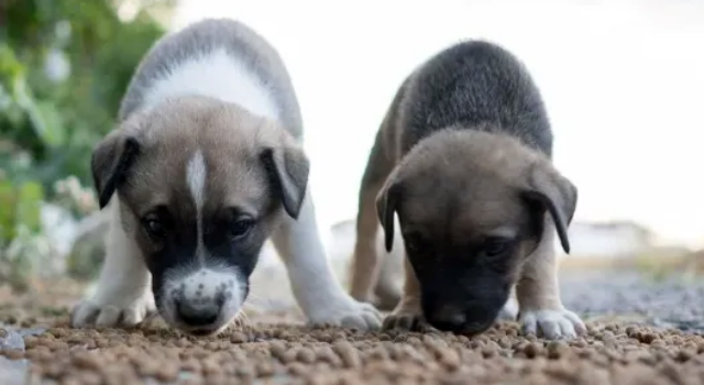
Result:
[[[158,319],[134,330],[68,329],[74,283],[0,292],[0,384],[704,383],[704,279],[563,272],[563,300],[590,330],[568,342],[521,337],[514,322],[471,339],[309,329],[282,282],[280,271],[262,270],[249,322],[217,338],[185,337]]]

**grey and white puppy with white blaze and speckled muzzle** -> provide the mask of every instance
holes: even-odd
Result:
[[[381,327],[330,268],[307,190],[309,161],[289,75],[246,25],[205,20],[145,55],[92,154],[111,228],[97,293],[75,327],[131,326],[157,309],[194,334],[224,329],[272,239],[311,323]]]

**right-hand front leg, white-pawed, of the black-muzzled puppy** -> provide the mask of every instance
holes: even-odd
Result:
[[[554,224],[547,220],[543,238],[522,266],[516,287],[518,317],[526,334],[571,339],[586,332],[586,328],[578,315],[562,306],[554,237]]]

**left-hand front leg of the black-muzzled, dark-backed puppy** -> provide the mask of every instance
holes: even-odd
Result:
[[[420,286],[413,266],[405,258],[406,282],[404,283],[404,295],[394,311],[384,319],[383,329],[409,330],[425,332],[430,329],[430,324],[422,315],[420,305]]]

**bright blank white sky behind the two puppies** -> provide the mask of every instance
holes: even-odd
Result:
[[[374,135],[398,86],[462,40],[514,52],[541,90],[575,221],[630,220],[704,246],[704,3],[685,0],[182,0],[178,30],[240,20],[282,55],[321,228],[354,218]],[[698,47],[698,48],[697,48]]]

